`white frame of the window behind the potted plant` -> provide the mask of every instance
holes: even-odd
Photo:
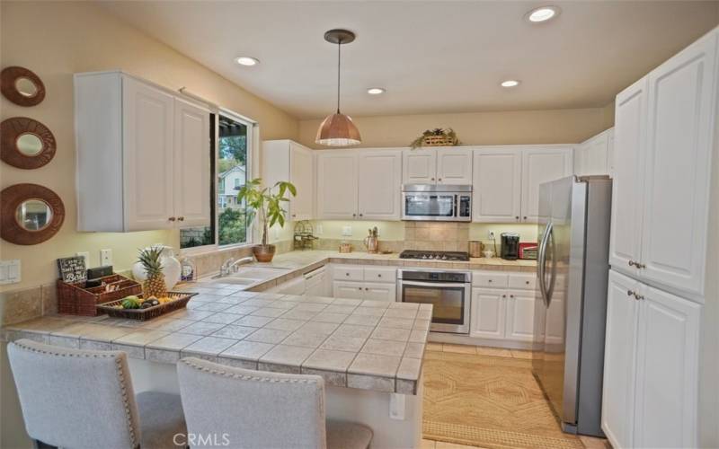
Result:
[[[248,248],[253,247],[256,243],[255,241],[255,223],[254,220],[247,226],[247,231],[245,233],[246,236],[246,242],[242,243],[229,243],[226,245],[220,245],[219,244],[219,207],[218,207],[218,198],[220,195],[219,191],[219,180],[217,179],[217,167],[219,166],[219,117],[224,116],[228,119],[233,119],[238,123],[243,124],[247,128],[247,154],[245,155],[245,172],[244,175],[247,180],[252,180],[256,178],[256,174],[258,172],[258,167],[255,166],[255,161],[259,161],[259,157],[256,157],[259,155],[259,148],[256,148],[256,146],[259,145],[259,139],[255,139],[255,132],[257,132],[257,122],[253,121],[252,119],[248,119],[240,114],[237,114],[236,112],[232,110],[227,110],[225,108],[217,108],[210,111],[211,114],[215,115],[215,128],[213,129],[213,132],[215,134],[215,147],[213,148],[213,154],[215,158],[215,162],[213,163],[213,173],[212,173],[212,181],[214,182],[214,192],[215,192],[215,198],[212,198],[212,201],[215,202],[214,207],[212,209],[214,210],[214,214],[212,216],[212,219],[214,220],[214,243],[209,245],[200,245],[200,246],[192,246],[190,248],[181,248],[180,254],[181,255],[199,255],[203,253],[209,253],[209,252],[222,252],[222,251],[235,251],[237,249],[241,248]],[[249,169],[249,170],[248,170]]]

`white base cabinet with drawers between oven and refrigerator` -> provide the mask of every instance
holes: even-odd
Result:
[[[533,275],[475,271],[472,280],[470,337],[519,342],[534,339],[537,300]]]

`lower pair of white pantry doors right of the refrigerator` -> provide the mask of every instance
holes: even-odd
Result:
[[[602,429],[614,447],[696,447],[700,312],[610,272]]]

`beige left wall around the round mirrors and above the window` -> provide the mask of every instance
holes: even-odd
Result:
[[[56,277],[55,260],[76,251],[90,251],[91,264],[99,251],[110,248],[114,265],[128,269],[138,247],[164,242],[177,248],[177,232],[75,232],[75,138],[73,81],[76,72],[120,68],[172,89],[187,86],[192,93],[260,122],[263,139],[297,138],[297,120],[267,101],[246,92],[205,66],[129,25],[119,22],[89,2],[3,2],[2,66],[25,66],[45,84],[45,101],[32,108],[0,102],[2,119],[27,116],[38,119],[55,135],[58,151],[48,165],[23,171],[0,163],[0,183],[35,182],[55,190],[66,207],[61,231],[48,242],[17,246],[0,242],[0,258],[22,260],[22,283],[0,286],[0,291],[37,286]],[[31,32],[31,31],[37,32]]]

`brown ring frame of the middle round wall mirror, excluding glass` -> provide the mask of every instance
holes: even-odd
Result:
[[[33,134],[40,138],[42,151],[39,154],[22,154],[17,139],[23,134]],[[13,117],[0,123],[0,159],[13,167],[24,170],[40,168],[55,157],[57,144],[49,128],[38,120],[27,117]]]

